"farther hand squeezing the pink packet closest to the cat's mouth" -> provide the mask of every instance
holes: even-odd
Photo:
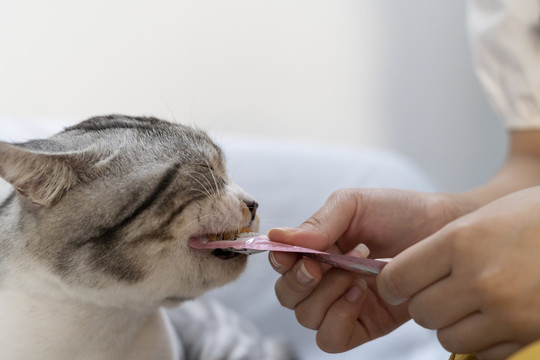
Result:
[[[452,198],[390,189],[345,189],[298,229],[272,229],[271,240],[353,254],[366,244],[372,257],[393,257],[462,214]],[[283,276],[276,282],[281,304],[317,330],[327,352],[342,352],[380,337],[410,319],[406,305],[380,299],[372,277],[329,269],[294,254],[271,253]]]

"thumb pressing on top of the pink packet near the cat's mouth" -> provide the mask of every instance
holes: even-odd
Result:
[[[272,241],[326,250],[345,234],[357,217],[358,189],[334,192],[325,204],[297,228],[274,228],[268,231]]]

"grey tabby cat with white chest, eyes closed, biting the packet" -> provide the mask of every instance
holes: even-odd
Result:
[[[255,226],[256,202],[202,131],[96,117],[0,142],[0,176],[14,188],[0,203],[0,359],[180,358],[161,306],[246,265],[188,246]]]

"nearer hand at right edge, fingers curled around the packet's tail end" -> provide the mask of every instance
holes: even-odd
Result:
[[[441,344],[506,359],[540,339],[540,187],[496,200],[396,256],[377,277],[390,304]]]

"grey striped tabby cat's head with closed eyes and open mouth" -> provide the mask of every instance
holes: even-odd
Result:
[[[200,130],[96,117],[49,139],[0,142],[0,176],[15,189],[0,204],[0,258],[39,291],[162,304],[245,268],[245,255],[188,246],[193,236],[254,227],[257,207]]]

